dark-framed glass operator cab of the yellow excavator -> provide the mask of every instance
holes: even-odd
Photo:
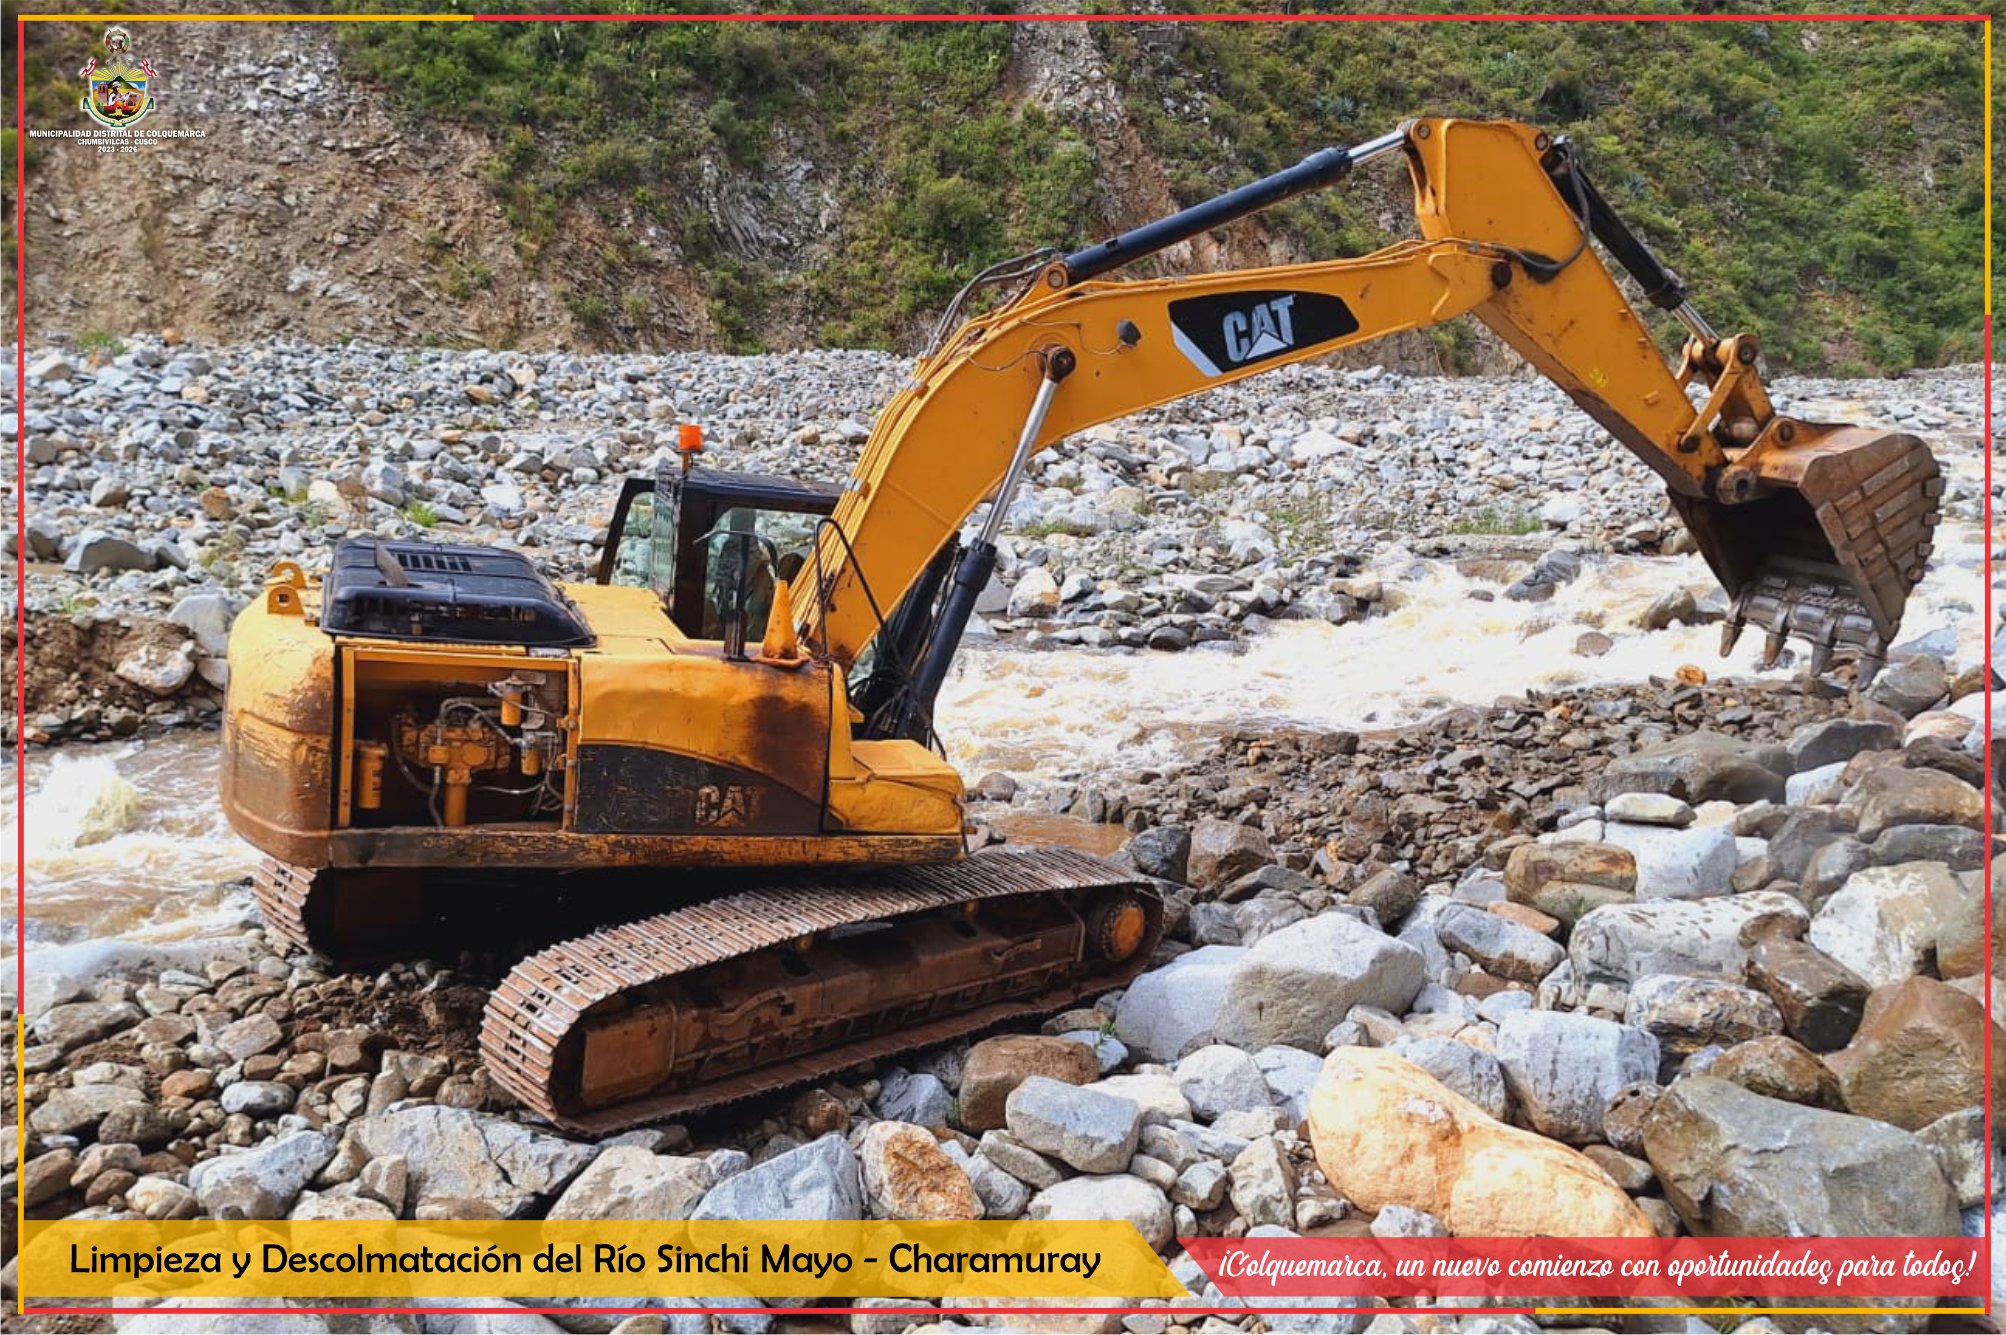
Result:
[[[690,639],[766,633],[772,589],[814,559],[814,529],[837,507],[832,483],[664,463],[620,487],[598,583],[652,587]]]

